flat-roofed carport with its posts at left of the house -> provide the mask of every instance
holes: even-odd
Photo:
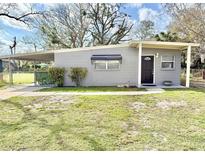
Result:
[[[12,75],[12,67],[11,67],[11,63],[13,60],[25,60],[25,61],[33,62],[33,64],[34,64],[34,83],[36,84],[36,77],[35,77],[35,72],[36,72],[35,64],[36,64],[36,62],[54,61],[54,51],[19,53],[19,54],[15,54],[15,55],[0,56],[0,63],[2,63],[3,61],[8,62],[9,84],[10,85],[13,84],[13,75]]]

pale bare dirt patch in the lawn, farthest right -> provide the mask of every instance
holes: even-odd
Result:
[[[187,103],[184,101],[179,101],[179,102],[162,101],[156,104],[156,107],[161,109],[166,109],[166,110],[171,108],[185,107],[185,106],[187,106]]]

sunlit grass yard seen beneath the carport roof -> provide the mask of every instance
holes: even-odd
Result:
[[[4,73],[3,79],[9,83],[9,74]],[[27,84],[34,82],[34,73],[13,73],[14,84]]]

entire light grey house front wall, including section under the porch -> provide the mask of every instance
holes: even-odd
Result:
[[[69,50],[66,50],[69,51]],[[180,84],[181,53],[177,50],[168,49],[142,49],[142,54],[158,54],[155,57],[155,83],[162,85],[164,80],[170,80],[174,85]],[[121,54],[122,64],[117,71],[97,71],[91,63],[91,56],[97,54]],[[161,69],[161,56],[174,55],[175,69],[165,71]],[[116,86],[119,84],[137,85],[138,49],[130,47],[94,49],[84,51],[55,53],[54,61],[56,67],[86,67],[88,74],[83,81],[83,86]],[[65,86],[73,86],[74,83],[65,75]]]

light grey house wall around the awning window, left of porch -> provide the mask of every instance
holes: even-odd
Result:
[[[91,63],[94,54],[121,54],[122,64],[117,71],[97,71]],[[84,86],[116,86],[118,84],[136,85],[137,83],[137,50],[129,47],[95,49],[73,52],[55,53],[57,67],[87,67],[88,75],[83,81]],[[74,85],[65,75],[65,86]]]

